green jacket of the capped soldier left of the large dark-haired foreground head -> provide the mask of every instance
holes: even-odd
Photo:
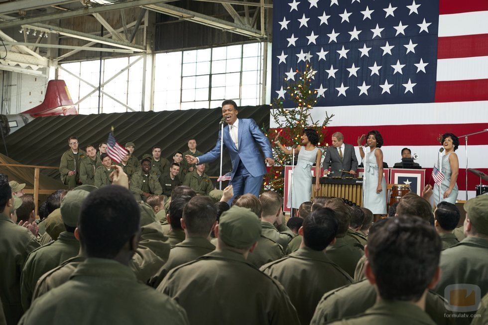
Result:
[[[41,246],[29,254],[20,277],[20,297],[24,311],[30,307],[37,280],[68,258],[76,256],[79,251],[80,242],[75,238],[74,233],[63,231],[56,241]]]

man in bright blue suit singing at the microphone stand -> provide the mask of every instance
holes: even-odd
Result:
[[[229,151],[232,160],[231,185],[234,188],[234,198],[246,193],[259,197],[262,177],[266,174],[266,166],[259,148],[264,153],[264,162],[272,165],[274,160],[271,144],[253,119],[238,119],[238,113],[236,102],[224,101],[222,116],[228,124],[224,127],[224,136],[222,137],[219,132],[217,144],[206,154],[199,157],[186,155],[185,158],[189,164],[204,164],[214,161],[220,156],[220,141],[223,138],[224,147]]]

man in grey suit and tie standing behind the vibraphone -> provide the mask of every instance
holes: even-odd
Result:
[[[327,149],[324,162],[324,176],[329,173],[334,177],[353,177],[358,169],[358,159],[351,144],[344,143],[344,135],[341,132],[332,134],[332,146]],[[348,172],[341,172],[347,170]]]

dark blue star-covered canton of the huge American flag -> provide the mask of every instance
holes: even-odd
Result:
[[[273,20],[271,96],[285,107],[307,60],[317,106],[434,102],[438,0],[278,0]]]

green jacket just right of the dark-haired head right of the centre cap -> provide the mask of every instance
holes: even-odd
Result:
[[[351,241],[354,242],[354,239],[351,237],[348,238],[346,236],[336,239],[335,244],[327,246],[327,257],[339,265],[351,277],[354,277],[356,265],[358,265],[358,261],[365,252],[361,249],[361,244],[357,242],[351,243]]]

